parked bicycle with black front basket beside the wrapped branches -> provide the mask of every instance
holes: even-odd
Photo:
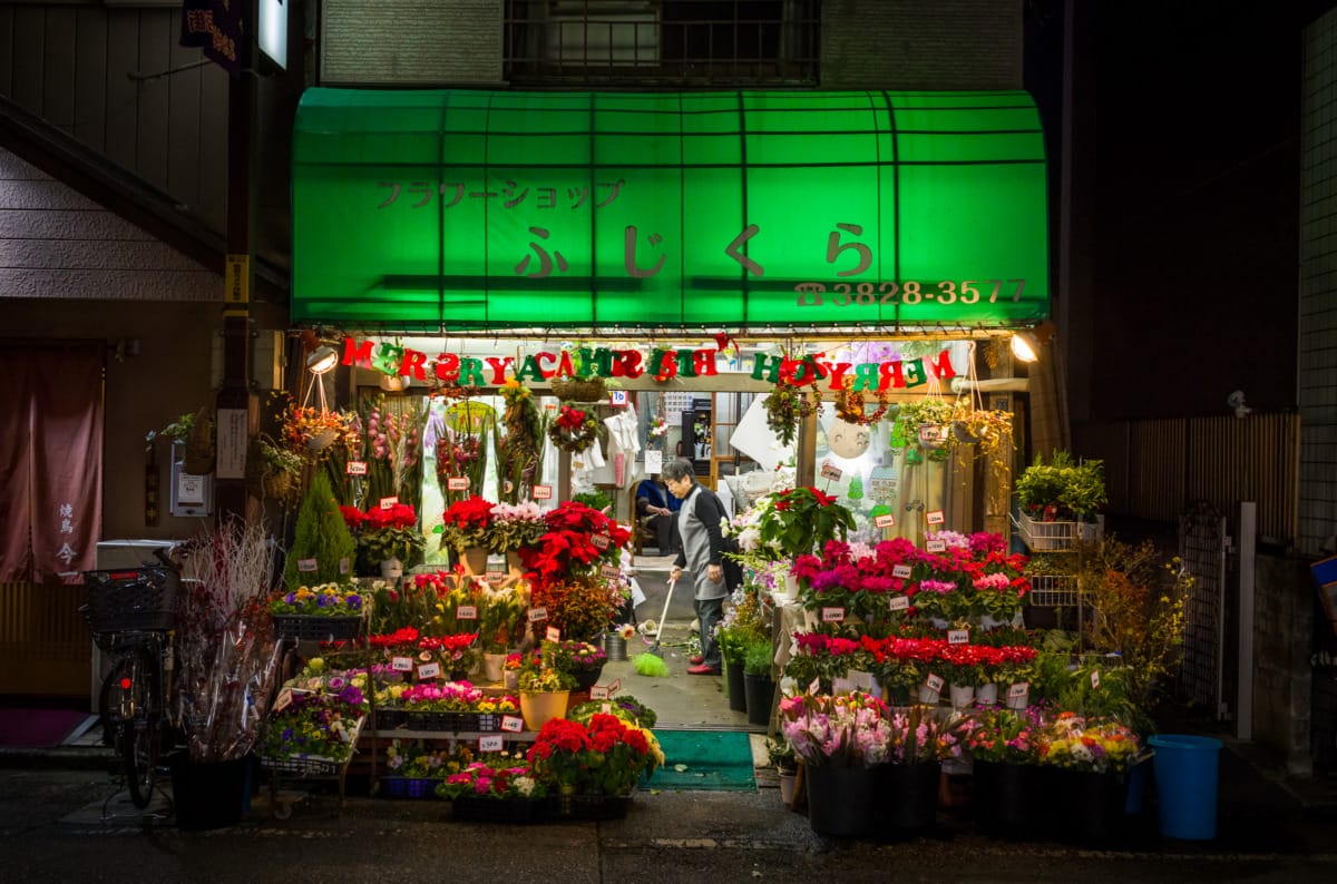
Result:
[[[84,572],[87,604],[80,608],[94,641],[114,656],[99,692],[104,741],[120,756],[130,799],[144,809],[154,795],[158,757],[168,724],[174,632],[180,572],[156,550],[163,565]]]

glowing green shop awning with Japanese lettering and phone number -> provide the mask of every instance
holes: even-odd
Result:
[[[1048,316],[1024,92],[308,89],[293,318],[1009,327]]]

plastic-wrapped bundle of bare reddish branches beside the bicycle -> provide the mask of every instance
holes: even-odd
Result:
[[[245,757],[259,740],[281,645],[265,605],[271,547],[259,525],[229,518],[193,551],[176,622],[179,669],[170,701],[195,761]]]

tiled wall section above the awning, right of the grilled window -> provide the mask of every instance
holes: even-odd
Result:
[[[1021,0],[826,0],[824,89],[1020,89]]]

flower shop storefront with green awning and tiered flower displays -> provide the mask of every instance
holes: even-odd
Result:
[[[1126,674],[1023,628],[1011,410],[981,395],[1048,315],[1028,96],[312,89],[293,154],[293,319],[329,371],[282,421],[312,469],[271,609],[356,621],[289,686],[364,704],[392,780],[519,821],[663,761],[598,668],[631,491],[683,455],[733,502],[726,672],[773,680],[749,718],[804,761],[814,829],[920,829],[972,758],[1126,795]],[[329,378],[356,414],[306,405]]]

